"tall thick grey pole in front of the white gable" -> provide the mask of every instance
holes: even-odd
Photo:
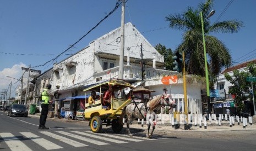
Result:
[[[125,0],[122,0],[122,19],[121,19],[121,48],[120,48],[120,56],[119,56],[119,79],[123,79],[123,53],[124,53],[124,7]]]

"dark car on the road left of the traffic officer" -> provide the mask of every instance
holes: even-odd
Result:
[[[28,117],[28,109],[24,104],[12,104],[8,109],[7,116],[22,116]]]

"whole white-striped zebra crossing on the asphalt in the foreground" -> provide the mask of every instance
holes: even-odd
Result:
[[[48,137],[54,138],[55,141],[49,141]],[[130,137],[124,134],[93,133],[91,131],[39,131],[36,134],[32,132],[19,132],[18,136],[14,136],[10,132],[0,132],[1,139],[3,140],[1,143],[5,142],[12,151],[33,150],[32,147],[35,144],[42,147],[43,150],[52,150],[63,149],[64,147],[61,146],[63,143],[77,148],[157,140],[154,138],[148,139],[144,136]]]

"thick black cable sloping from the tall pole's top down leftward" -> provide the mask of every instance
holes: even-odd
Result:
[[[106,18],[108,18],[108,16],[110,16],[114,11],[117,10],[117,8],[121,5],[122,3],[120,3],[120,0],[117,0],[116,2],[116,6],[115,8],[110,11],[110,13],[108,13],[108,15],[106,15],[102,20],[100,20],[100,22],[98,22],[94,27],[91,28],[91,30],[89,30],[84,36],[82,36],[79,40],[77,40],[77,42],[75,42],[74,44],[70,45],[70,47],[66,50],[64,50],[61,54],[57,55],[54,59],[47,61],[45,63],[43,63],[42,65],[38,65],[38,66],[34,66],[31,68],[35,68],[35,67],[42,67],[45,66],[47,63],[55,61],[59,56],[61,56],[62,54],[64,54],[66,51],[68,51],[70,48],[74,47],[75,44],[77,44],[78,42],[80,42],[81,39],[83,39],[85,36],[87,36],[92,30],[94,30],[97,26],[99,26],[101,24],[102,21],[104,21]]]

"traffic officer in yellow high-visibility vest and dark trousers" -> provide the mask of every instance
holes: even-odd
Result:
[[[55,92],[53,92],[52,90],[50,90],[52,88],[51,84],[47,84],[46,88],[43,89],[41,96],[42,96],[42,100],[41,100],[41,115],[40,115],[40,120],[39,120],[39,129],[49,129],[49,127],[45,126],[46,123],[46,119],[47,119],[47,114],[48,114],[48,109],[49,109],[49,103],[51,103],[52,101],[50,101],[51,96],[55,95]]]

